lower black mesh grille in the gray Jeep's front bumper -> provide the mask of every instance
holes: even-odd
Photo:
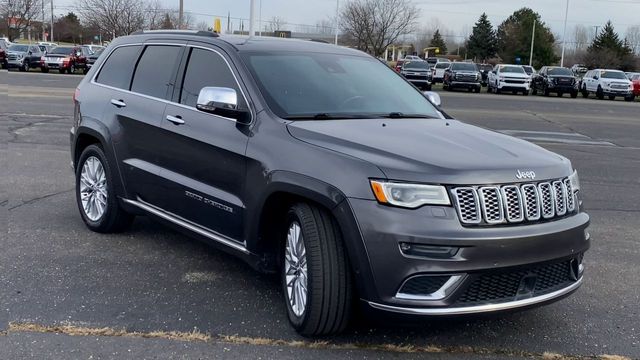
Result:
[[[516,301],[548,294],[577,281],[570,259],[478,275],[458,298],[461,306]]]

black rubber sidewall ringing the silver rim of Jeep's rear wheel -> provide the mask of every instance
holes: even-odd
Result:
[[[82,173],[82,167],[84,163],[90,157],[97,158],[102,164],[102,168],[105,172],[105,178],[107,179],[107,209],[102,214],[102,217],[97,221],[93,221],[87,217],[84,212],[82,206],[82,200],[80,199],[80,174]],[[76,166],[76,202],[78,204],[78,211],[80,212],[80,216],[82,216],[82,220],[89,227],[89,229],[97,232],[105,232],[108,230],[110,223],[113,222],[113,219],[116,216],[116,212],[118,211],[118,200],[113,191],[113,181],[112,181],[112,172],[109,166],[109,162],[107,157],[104,154],[104,151],[97,145],[89,145],[84,149],[80,158],[78,159],[78,165]]]

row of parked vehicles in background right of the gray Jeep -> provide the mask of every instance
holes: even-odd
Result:
[[[560,66],[544,66],[539,71],[527,65],[474,64],[451,62],[443,58],[423,60],[417,56],[398,61],[395,70],[409,82],[423,90],[431,90],[432,84],[442,83],[444,90],[466,89],[479,93],[483,86],[489,93],[521,93],[562,97],[579,94],[587,98],[595,94],[598,99],[614,100],[622,97],[633,101],[640,96],[640,73],[624,73],[619,70],[586,70],[582,65],[572,69]],[[581,76],[582,75],[582,76]]]

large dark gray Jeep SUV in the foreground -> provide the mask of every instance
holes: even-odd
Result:
[[[279,273],[304,335],[356,304],[456,315],[575,291],[589,216],[569,160],[435,98],[329,44],[119,38],[74,95],[80,215],[97,232],[148,215]]]

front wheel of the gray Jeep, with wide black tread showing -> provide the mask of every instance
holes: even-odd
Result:
[[[304,336],[339,333],[349,322],[353,296],[340,229],[329,213],[306,203],[293,205],[286,219],[281,275],[289,321]],[[300,255],[299,246],[292,246],[297,243],[295,226],[300,235],[297,240],[303,245],[306,264],[303,267],[297,267],[294,263],[299,262],[289,255],[292,248],[298,249],[297,255]],[[306,278],[298,275],[304,271]],[[306,280],[301,280],[303,278]],[[306,281],[306,301],[296,307],[292,296],[299,281]],[[288,283],[292,284],[291,288]],[[304,293],[304,289],[301,291]]]

